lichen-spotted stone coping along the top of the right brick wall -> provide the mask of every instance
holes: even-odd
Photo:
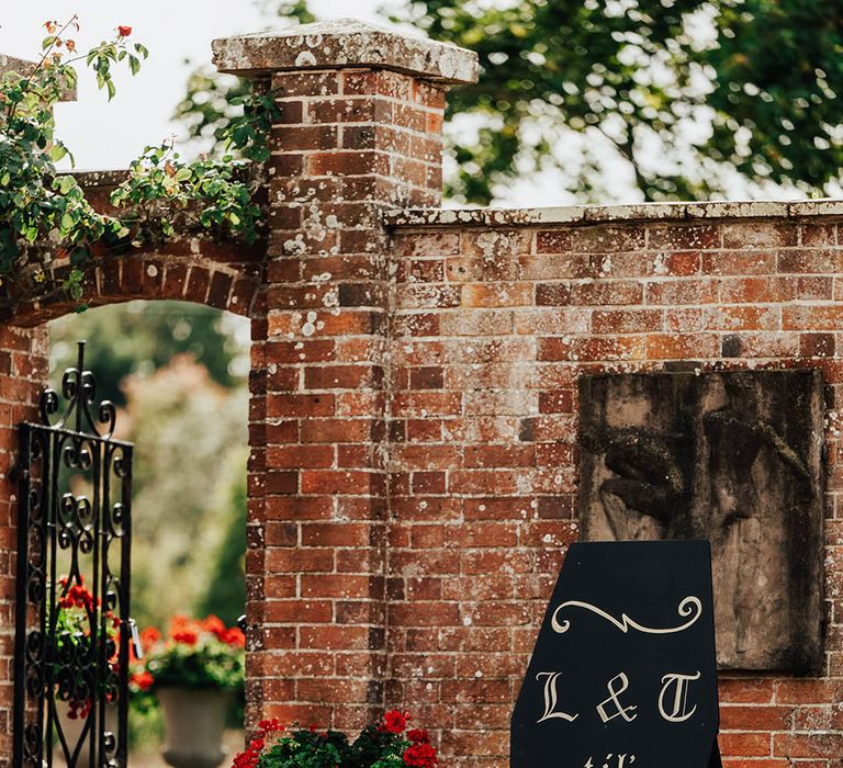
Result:
[[[722,218],[800,218],[843,216],[843,200],[743,201],[712,203],[642,203],[638,205],[565,205],[538,208],[413,208],[389,211],[387,227],[518,227],[546,224],[687,222]]]

